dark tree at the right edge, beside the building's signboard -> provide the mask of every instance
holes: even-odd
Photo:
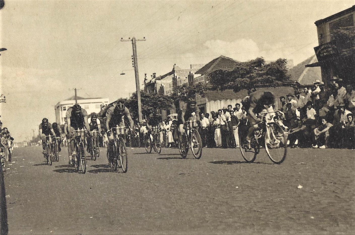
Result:
[[[355,27],[344,27],[332,34],[339,55],[333,59],[335,70],[345,84],[355,85]]]

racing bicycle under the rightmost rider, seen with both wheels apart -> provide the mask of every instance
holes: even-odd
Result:
[[[240,152],[245,161],[255,161],[261,148],[265,148],[269,159],[273,163],[281,164],[285,160],[287,154],[287,138],[285,132],[276,122],[267,122],[266,119],[266,115],[278,112],[279,111],[260,113],[263,121],[254,131],[250,143],[240,138]]]

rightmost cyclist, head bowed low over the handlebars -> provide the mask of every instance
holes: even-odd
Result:
[[[248,134],[246,136],[247,142],[251,142],[254,131],[258,128],[258,124],[262,122],[262,119],[257,117],[257,115],[264,109],[271,109],[274,103],[275,97],[269,91],[255,91],[250,94],[249,98],[247,99],[247,103],[245,103],[245,105],[249,107],[247,109],[247,122],[249,126]]]

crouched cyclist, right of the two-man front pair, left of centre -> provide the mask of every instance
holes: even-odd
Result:
[[[109,139],[109,144],[108,144],[108,161],[109,164],[111,163],[113,159],[113,145],[114,145],[114,137],[113,137],[113,132],[111,128],[116,127],[119,125],[120,127],[125,126],[124,122],[122,121],[122,117],[127,117],[127,119],[130,122],[130,128],[131,130],[134,130],[134,122],[131,117],[130,111],[128,110],[127,107],[125,107],[124,104],[121,102],[118,102],[117,104],[113,105],[106,111],[106,128],[107,128],[107,136]]]

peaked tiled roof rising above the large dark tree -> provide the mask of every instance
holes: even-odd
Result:
[[[201,74],[201,75],[209,74],[219,69],[231,71],[235,69],[238,63],[239,63],[238,61],[235,61],[234,59],[231,59],[229,57],[220,56],[208,62],[201,69],[197,70],[195,74]]]

